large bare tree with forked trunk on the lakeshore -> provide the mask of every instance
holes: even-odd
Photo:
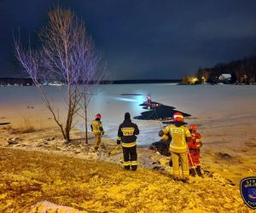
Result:
[[[92,78],[96,72],[90,72],[93,66],[94,46],[90,36],[85,31],[84,22],[79,20],[69,9],[54,9],[49,12],[49,22],[39,32],[40,49],[23,49],[20,37],[15,38],[15,54],[21,66],[32,78],[33,83],[41,92],[55,123],[67,141],[70,140],[70,130],[73,128],[73,118],[79,112],[81,95],[79,83],[86,83],[86,78]],[[96,59],[95,59],[96,60]],[[88,72],[88,73],[87,73]],[[67,116],[64,124],[56,116],[55,107],[44,92],[42,80],[61,81],[67,86]],[[87,87],[84,86],[84,89]]]

